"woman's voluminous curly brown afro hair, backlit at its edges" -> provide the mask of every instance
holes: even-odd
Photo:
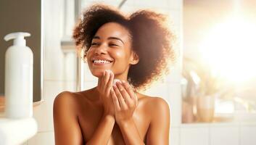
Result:
[[[165,15],[145,9],[126,16],[103,4],[88,7],[73,31],[75,45],[84,49],[83,57],[86,57],[96,31],[107,22],[117,22],[131,34],[131,48],[139,56],[139,62],[128,70],[128,82],[135,89],[146,88],[163,72],[169,72],[169,62],[175,60],[175,36],[166,25]]]

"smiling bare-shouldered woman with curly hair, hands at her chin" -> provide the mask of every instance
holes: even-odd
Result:
[[[56,97],[56,144],[169,143],[168,103],[138,92],[174,58],[164,22],[162,14],[142,10],[126,17],[101,4],[83,13],[73,38],[98,85]]]

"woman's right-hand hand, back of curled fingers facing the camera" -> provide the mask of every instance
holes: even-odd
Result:
[[[117,81],[111,89],[112,101],[115,106],[115,120],[117,124],[130,121],[138,104],[138,99],[133,88],[125,82]]]

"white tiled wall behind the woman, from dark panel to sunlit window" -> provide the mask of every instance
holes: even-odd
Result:
[[[94,1],[85,1],[88,5]],[[104,1],[106,4],[117,6],[120,1]],[[61,91],[75,91],[75,80],[73,77],[75,67],[74,61],[67,61],[62,53],[60,41],[63,36],[64,23],[64,0],[44,0],[44,102],[38,107],[34,107],[33,114],[38,122],[38,133],[36,136],[28,140],[25,144],[28,145],[51,145],[54,144],[54,128],[52,107],[54,98]],[[123,11],[132,12],[138,8],[154,8],[160,12],[170,14],[173,17],[173,28],[176,28],[178,36],[181,35],[181,0],[128,0],[123,6]],[[177,50],[180,49],[179,44],[176,44]],[[180,53],[180,51],[178,51]],[[65,63],[67,63],[65,65]],[[146,94],[154,96],[162,96],[169,104],[172,111],[172,136],[177,136],[171,142],[178,143],[178,132],[176,125],[181,123],[181,91],[180,91],[180,57],[177,65],[173,67],[173,73],[168,76],[164,83],[157,83],[158,86],[153,86]],[[65,73],[66,72],[66,73]],[[96,84],[96,78],[86,71],[85,87],[91,88]],[[161,90],[161,91],[159,91]],[[175,102],[175,103],[174,103]]]

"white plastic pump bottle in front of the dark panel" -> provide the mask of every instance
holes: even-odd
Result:
[[[5,54],[4,94],[8,118],[33,115],[33,52],[26,46],[25,36],[30,33],[9,33],[5,41],[14,39]]]

